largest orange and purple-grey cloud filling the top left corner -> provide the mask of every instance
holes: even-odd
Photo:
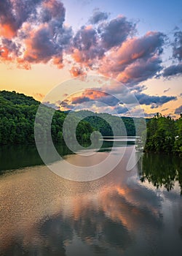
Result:
[[[1,1],[1,61],[14,60],[18,66],[29,68],[32,63],[52,60],[63,68],[63,51],[72,39],[71,27],[63,24],[65,12],[59,0]]]

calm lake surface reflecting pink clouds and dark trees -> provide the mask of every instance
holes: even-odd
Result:
[[[1,148],[0,255],[182,255],[181,159],[146,154],[126,171],[133,147],[90,182],[56,176],[33,145]],[[122,143],[115,149],[113,157]],[[68,149],[58,151],[78,162]]]

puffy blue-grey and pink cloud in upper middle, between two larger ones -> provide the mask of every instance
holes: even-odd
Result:
[[[103,61],[107,51],[122,45],[134,30],[135,25],[125,17],[100,23],[98,28],[82,26],[73,39],[72,57],[82,66],[97,69],[98,61]]]

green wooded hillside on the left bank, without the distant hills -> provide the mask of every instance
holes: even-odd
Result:
[[[34,122],[36,111],[40,102],[27,97],[24,94],[18,94],[15,91],[0,91],[0,144],[22,144],[34,143]],[[47,106],[44,106],[44,116],[49,112]],[[63,122],[66,113],[59,110],[55,111],[52,118],[52,140],[55,143],[63,142]],[[47,140],[45,129],[41,129],[41,119],[36,125],[39,126],[40,140]],[[47,120],[43,120],[46,122]],[[76,117],[72,118],[76,121]],[[80,143],[90,140],[90,134],[94,131],[87,121],[80,121],[76,128],[76,138]],[[71,135],[68,134],[70,137]]]

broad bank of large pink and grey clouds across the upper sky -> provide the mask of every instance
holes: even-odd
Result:
[[[135,23],[122,15],[108,20],[106,12],[95,9],[91,25],[74,34],[64,23],[65,15],[60,0],[1,1],[0,60],[15,61],[25,69],[52,61],[61,69],[68,57],[74,77],[91,69],[128,86],[153,78],[162,69],[162,33],[133,38]],[[175,34],[178,59],[180,44],[181,34]]]

